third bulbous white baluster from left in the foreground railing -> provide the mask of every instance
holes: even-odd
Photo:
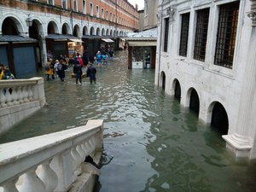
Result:
[[[50,160],[47,160],[42,165],[42,169],[38,172],[38,177],[44,182],[47,192],[51,192],[58,184],[58,178],[56,173],[49,166]]]

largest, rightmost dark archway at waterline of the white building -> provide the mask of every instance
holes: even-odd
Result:
[[[213,129],[218,130],[222,135],[228,134],[229,131],[229,118],[223,105],[216,102],[212,108],[212,121],[211,126]]]

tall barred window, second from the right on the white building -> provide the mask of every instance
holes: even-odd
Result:
[[[210,9],[197,11],[194,59],[199,61],[205,61],[206,58],[209,12]]]

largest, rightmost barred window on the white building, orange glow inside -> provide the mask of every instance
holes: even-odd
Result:
[[[228,68],[233,66],[238,12],[239,2],[219,6],[215,65]]]

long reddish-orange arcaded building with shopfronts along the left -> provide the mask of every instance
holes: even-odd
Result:
[[[119,38],[138,29],[138,20],[127,0],[0,1],[0,62],[19,78],[49,57],[95,54],[108,43],[117,49]]]

